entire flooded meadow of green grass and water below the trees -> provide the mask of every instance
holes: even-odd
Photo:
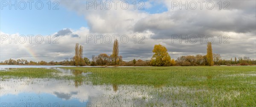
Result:
[[[211,74],[209,68],[199,68],[207,70],[197,73],[192,71],[193,67],[5,68],[0,76],[0,104],[1,107],[256,105],[255,66],[223,67],[223,73],[218,72],[219,67],[212,67]]]

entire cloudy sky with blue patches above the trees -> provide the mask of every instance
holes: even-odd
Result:
[[[98,0],[99,1],[99,0]],[[249,56],[255,57],[255,24],[256,24],[256,1],[246,0],[229,1],[230,10],[219,9],[218,1],[214,9],[207,9],[206,2],[203,8],[181,9],[172,7],[171,0],[143,0],[144,10],[134,10],[135,0],[128,0],[129,9],[124,10],[99,10],[86,9],[86,0],[61,0],[58,10],[49,10],[49,0],[42,0],[44,7],[41,10],[32,9],[9,9],[9,6],[0,9],[0,31],[2,35],[43,35],[62,34],[58,39],[59,44],[47,44],[47,38],[43,44],[38,44],[33,38],[32,43],[11,44],[5,40],[0,46],[0,61],[7,59],[28,59],[34,61],[63,61],[71,58],[74,54],[74,46],[79,43],[84,46],[84,57],[100,53],[112,53],[113,44],[85,43],[87,35],[128,35],[128,44],[120,43],[119,53],[122,53],[125,61],[132,59],[151,59],[152,48],[155,44],[164,45],[171,56],[177,59],[180,56],[206,54],[206,43],[180,43],[177,40],[172,44],[172,35],[213,35],[215,42],[212,44],[214,53],[219,53],[222,59],[231,57]],[[182,0],[183,3],[186,2]],[[8,1],[9,2],[9,1]],[[15,0],[11,0],[12,3]],[[20,1],[17,1],[19,3]],[[27,2],[27,1],[26,1]],[[53,0],[50,1],[53,3]],[[188,2],[190,2],[188,0]],[[120,3],[120,2],[119,2]],[[137,3],[139,3],[137,1]],[[29,3],[26,3],[29,5]],[[34,4],[34,5],[33,5]],[[114,3],[112,3],[114,5]],[[139,8],[141,4],[137,4]],[[223,8],[223,7],[221,7]],[[74,36],[75,35],[75,36]],[[143,35],[145,44],[134,43],[133,36]],[[218,36],[228,35],[229,44],[219,43]],[[52,35],[53,36],[53,35]],[[206,36],[205,36],[206,37]],[[113,38],[112,38],[113,39]],[[53,41],[54,39],[52,39]],[[119,38],[120,40],[120,38]],[[137,38],[139,40],[139,38]],[[222,40],[226,40],[222,38]],[[92,40],[94,41],[94,40]],[[199,40],[198,40],[199,41]],[[222,42],[223,42],[222,41]],[[242,41],[242,42],[241,42]],[[12,48],[9,48],[12,47]],[[221,48],[229,47],[229,48]]]

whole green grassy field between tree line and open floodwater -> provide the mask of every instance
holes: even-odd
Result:
[[[91,85],[153,87],[138,89],[154,95],[154,98],[143,98],[148,99],[146,106],[183,106],[178,103],[180,100],[186,102],[185,106],[256,106],[256,66],[61,68],[71,70],[72,75],[44,68],[36,73],[38,69],[1,71],[1,81],[10,78],[52,78]],[[172,104],[166,105],[163,101]]]

